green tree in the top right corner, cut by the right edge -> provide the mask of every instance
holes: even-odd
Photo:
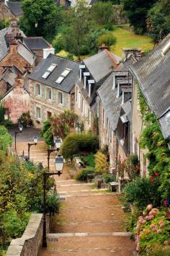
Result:
[[[157,43],[170,32],[170,2],[169,0],[158,1],[148,12],[148,31]]]

